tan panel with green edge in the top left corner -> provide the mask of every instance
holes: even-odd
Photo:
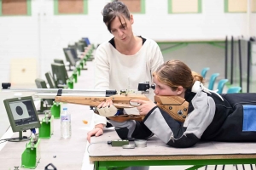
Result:
[[[31,0],[0,0],[0,16],[31,15]]]

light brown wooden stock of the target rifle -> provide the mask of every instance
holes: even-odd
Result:
[[[113,101],[116,108],[131,108],[137,105],[130,103],[131,99],[142,99],[148,101],[149,99],[143,94],[115,94],[110,97],[95,97],[95,96],[56,96],[56,102],[64,102],[78,105],[98,106],[107,99]],[[189,103],[178,96],[154,96],[156,105],[163,111],[166,111],[173,119],[178,122],[184,122],[188,116]],[[140,115],[120,115],[109,116],[108,118],[116,122],[125,122],[128,120],[143,121],[144,116]]]

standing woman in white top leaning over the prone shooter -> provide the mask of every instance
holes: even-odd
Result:
[[[133,15],[124,3],[108,3],[102,15],[113,38],[96,49],[95,88],[119,91],[137,89],[139,82],[151,83],[152,73],[164,62],[157,43],[133,34]],[[91,136],[102,135],[106,124],[106,117],[95,115],[95,128],[87,133],[88,141]]]

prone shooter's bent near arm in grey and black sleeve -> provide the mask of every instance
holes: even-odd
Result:
[[[201,91],[192,99],[192,105],[194,111],[189,113],[184,123],[175,121],[158,107],[149,111],[143,122],[165,144],[177,148],[193,146],[212,122],[215,103]]]

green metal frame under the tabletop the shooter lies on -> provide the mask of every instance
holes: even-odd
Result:
[[[201,159],[201,160],[137,160],[137,161],[95,161],[96,170],[124,169],[131,166],[184,166],[194,165],[187,170],[195,170],[206,165],[255,164],[256,159]]]

